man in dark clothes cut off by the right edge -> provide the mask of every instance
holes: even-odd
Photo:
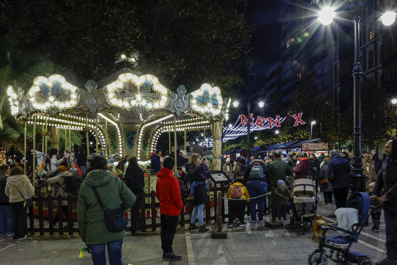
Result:
[[[376,265],[397,264],[397,140],[385,145],[386,158],[378,172],[372,200],[383,203],[386,232],[386,257]]]

